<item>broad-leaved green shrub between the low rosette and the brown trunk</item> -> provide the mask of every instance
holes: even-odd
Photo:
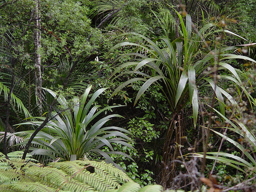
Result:
[[[153,130],[154,124],[145,120],[145,117],[130,119],[127,124],[126,129],[132,133],[130,137],[133,141],[128,141],[128,143],[137,150],[119,143],[113,144],[113,148],[129,155],[135,162],[119,154],[111,154],[110,157],[126,171],[127,175],[132,178],[132,180],[136,181],[141,186],[152,184],[154,183],[152,178],[154,173],[151,171],[150,166],[152,165],[153,158],[155,158],[152,143],[159,138],[160,132]],[[110,151],[110,148],[105,146],[103,151]]]

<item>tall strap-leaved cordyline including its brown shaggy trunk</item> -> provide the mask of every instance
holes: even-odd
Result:
[[[159,38],[160,41],[165,43],[163,48],[159,47],[158,44],[147,37],[135,33],[124,33],[121,36],[136,35],[144,39],[146,43],[137,44],[123,42],[116,44],[113,47],[113,49],[117,49],[127,45],[136,46],[141,50],[141,54],[138,53],[138,51],[124,54],[116,59],[118,61],[126,56],[134,56],[133,60],[117,67],[111,77],[115,76],[115,79],[124,74],[131,74],[131,76],[136,75],[136,77],[129,79],[117,87],[112,96],[133,82],[145,81],[137,93],[134,101],[135,105],[149,86],[152,84],[161,84],[163,86],[163,88],[161,88],[162,86],[159,87],[167,98],[170,110],[172,111],[172,119],[170,120],[169,128],[167,130],[163,150],[163,185],[169,183],[175,173],[175,169],[170,169],[170,165],[172,164],[172,166],[174,166],[175,164],[170,162],[173,162],[173,160],[176,159],[179,155],[179,151],[178,148],[171,146],[171,143],[177,143],[178,145],[182,145],[183,143],[182,137],[183,132],[185,132],[185,126],[182,125],[184,119],[182,111],[185,106],[188,104],[192,105],[194,126],[196,127],[199,108],[198,90],[204,86],[210,86],[213,90],[213,96],[217,97],[220,113],[225,115],[223,96],[227,97],[230,102],[233,102],[233,98],[228,92],[217,85],[220,79],[227,79],[230,82],[235,83],[237,88],[242,89],[250,101],[251,97],[245,90],[244,85],[237,74],[237,71],[239,70],[233,68],[226,63],[225,60],[244,59],[256,62],[246,56],[228,53],[228,51],[236,49],[235,46],[220,49],[215,48],[213,51],[210,50],[209,45],[205,42],[205,39],[208,37],[214,36],[215,33],[220,32],[232,35],[236,34],[225,29],[214,30],[214,25],[212,23],[204,24],[200,30],[197,30],[191,21],[190,15],[186,14],[186,22],[184,22],[182,16],[178,12],[177,14],[180,18],[180,33],[182,36],[173,41],[168,37]],[[192,28],[195,28],[196,33],[192,33]],[[203,52],[202,47],[208,47],[208,52]],[[127,70],[131,67],[134,69]],[[142,68],[150,68],[151,73],[146,74],[141,72],[140,69]],[[208,68],[211,70],[207,70]],[[230,75],[217,76],[217,71],[222,69],[228,70]],[[166,169],[167,166],[169,169]]]

